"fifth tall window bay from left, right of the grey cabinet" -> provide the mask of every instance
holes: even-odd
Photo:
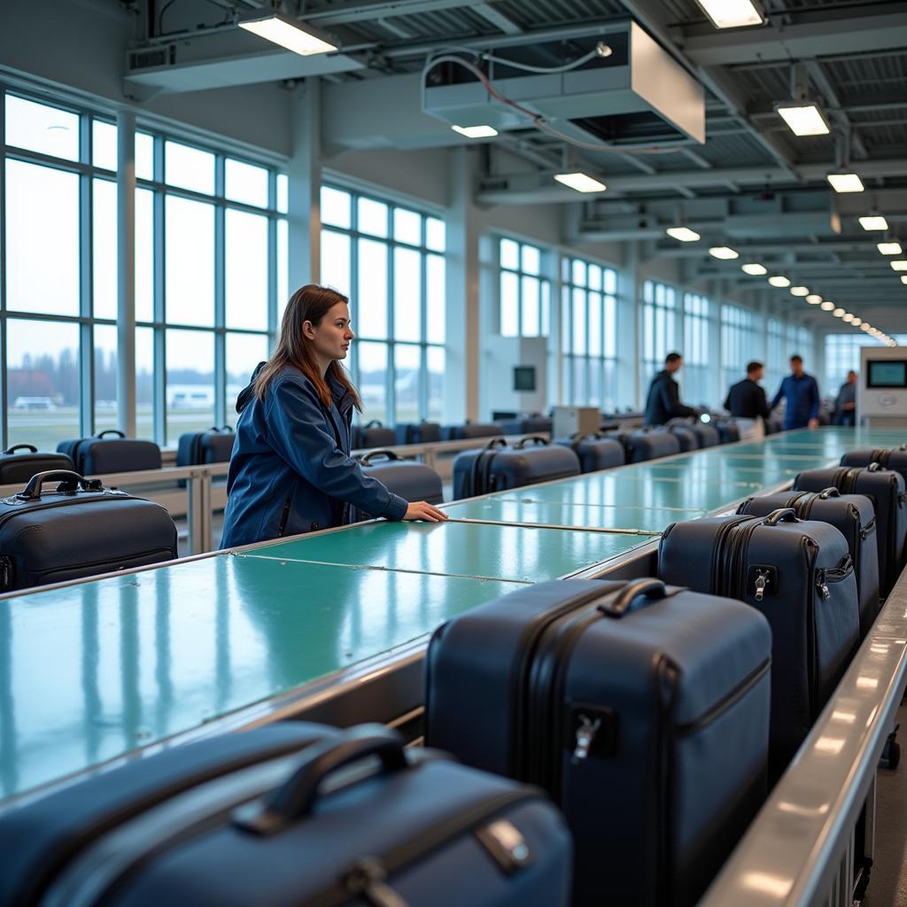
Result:
[[[614,412],[618,398],[617,271],[561,259],[561,363],[566,399]]]

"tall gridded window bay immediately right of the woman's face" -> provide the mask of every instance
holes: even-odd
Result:
[[[321,280],[350,297],[362,421],[438,421],[444,221],[336,186],[321,189],[321,220]]]

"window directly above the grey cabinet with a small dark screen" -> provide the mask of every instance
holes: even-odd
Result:
[[[548,336],[551,283],[541,276],[541,249],[502,238],[498,263],[501,335]]]

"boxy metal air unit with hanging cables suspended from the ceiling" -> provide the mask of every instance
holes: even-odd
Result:
[[[609,24],[601,34],[571,42],[574,58],[600,42],[609,55],[564,73],[482,65],[498,93],[581,141],[628,147],[706,141],[703,87],[658,42],[635,22]],[[551,67],[563,60],[563,43],[508,47],[496,55]],[[499,132],[532,126],[531,116],[495,98],[474,73],[453,62],[425,71],[422,106],[451,125],[488,125]]]

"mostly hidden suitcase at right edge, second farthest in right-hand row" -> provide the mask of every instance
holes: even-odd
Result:
[[[887,598],[901,575],[907,541],[907,495],[901,473],[883,470],[876,463],[865,469],[841,467],[800,473],[795,491],[821,492],[834,487],[843,494],[864,494],[873,502],[879,548],[879,594]]]

